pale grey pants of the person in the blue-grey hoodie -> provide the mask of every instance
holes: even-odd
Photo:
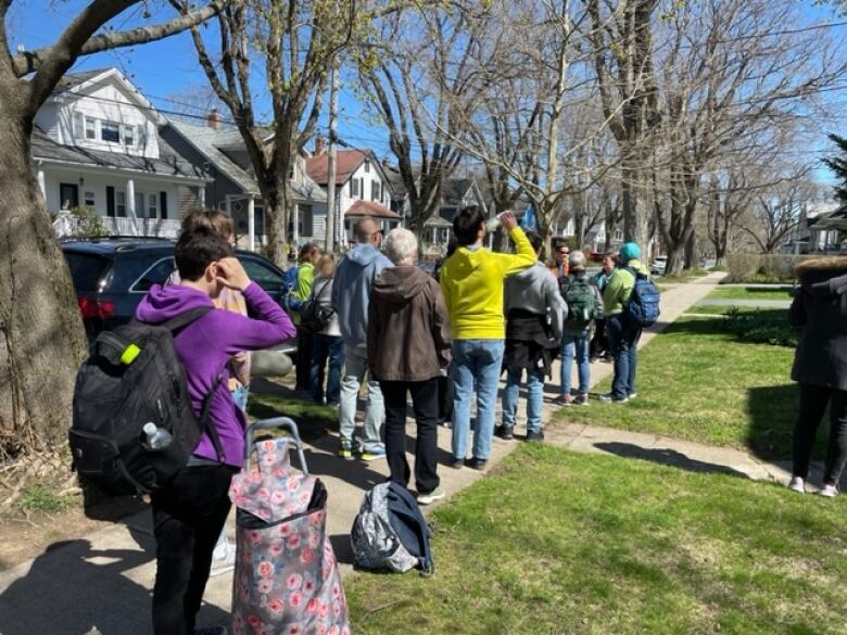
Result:
[[[344,378],[341,381],[341,403],[339,405],[339,436],[342,443],[353,444],[356,429],[356,405],[358,391],[368,372],[367,348],[364,346],[344,346]],[[382,452],[384,445],[380,428],[385,420],[385,406],[379,382],[368,377],[368,398],[365,402],[365,430],[362,452]]]

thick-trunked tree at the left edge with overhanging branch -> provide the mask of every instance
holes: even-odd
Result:
[[[0,0],[0,452],[61,439],[69,423],[77,364],[86,350],[76,296],[30,163],[38,109],[80,55],[157,40],[226,4],[130,30],[101,30],[136,0],[93,0],[46,48],[10,49]]]

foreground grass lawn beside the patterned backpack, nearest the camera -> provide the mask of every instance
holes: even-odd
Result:
[[[847,498],[522,445],[430,516],[435,575],[345,580],[361,634],[842,634]]]

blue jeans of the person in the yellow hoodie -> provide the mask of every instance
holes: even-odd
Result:
[[[503,366],[503,340],[453,340],[453,456],[464,459],[470,430],[470,397],[477,384],[473,458],[488,459],[494,435],[497,380]]]

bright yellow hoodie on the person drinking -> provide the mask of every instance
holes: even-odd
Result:
[[[516,227],[509,237],[517,247],[516,254],[460,246],[441,268],[441,290],[454,340],[505,339],[504,278],[531,267],[538,259],[522,229]]]

